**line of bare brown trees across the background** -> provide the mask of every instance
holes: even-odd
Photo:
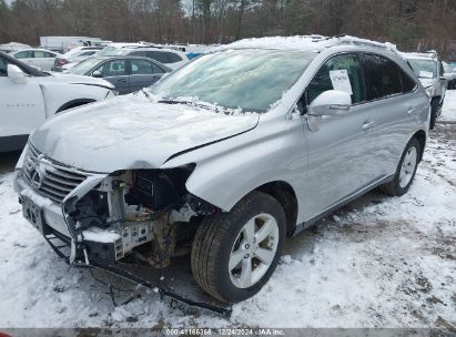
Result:
[[[40,35],[227,43],[353,34],[456,57],[456,0],[0,0],[0,42]],[[452,42],[453,41],[453,42]]]

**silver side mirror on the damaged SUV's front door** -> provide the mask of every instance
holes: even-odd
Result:
[[[314,116],[323,115],[346,115],[352,105],[352,96],[347,92],[328,90],[321,93],[308,106],[308,114]]]

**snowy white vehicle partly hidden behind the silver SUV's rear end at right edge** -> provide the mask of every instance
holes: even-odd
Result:
[[[446,93],[444,68],[436,52],[404,53],[423,86],[430,98],[430,124],[434,129],[437,116],[442,113]]]

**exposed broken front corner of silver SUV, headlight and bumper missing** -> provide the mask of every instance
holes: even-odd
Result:
[[[189,253],[199,217],[219,211],[185,190],[194,167],[89,177],[62,204],[71,235],[70,263],[113,265],[132,253],[163,268],[171,257]]]

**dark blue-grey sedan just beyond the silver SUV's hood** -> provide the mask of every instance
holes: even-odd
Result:
[[[69,70],[72,74],[107,80],[115,86],[119,94],[149,86],[168,72],[171,69],[160,62],[135,57],[92,58]]]

